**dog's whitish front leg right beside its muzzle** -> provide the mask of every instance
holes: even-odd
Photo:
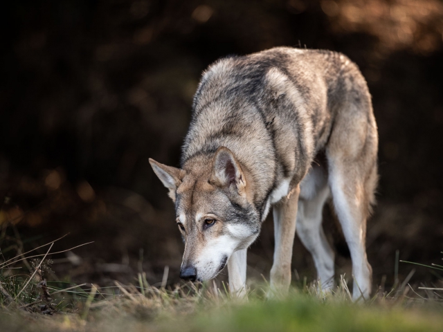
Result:
[[[228,260],[229,292],[234,297],[246,295],[246,250],[237,250]]]

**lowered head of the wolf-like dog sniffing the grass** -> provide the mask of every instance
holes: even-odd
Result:
[[[150,163],[175,203],[185,243],[180,276],[213,279],[230,255],[250,246],[260,232],[251,176],[226,147],[188,160],[183,169]]]

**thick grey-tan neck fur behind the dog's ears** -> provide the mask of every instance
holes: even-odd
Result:
[[[273,187],[276,163],[271,133],[251,104],[214,102],[201,109],[186,136],[183,169],[208,174],[219,147],[227,147],[235,155],[246,175],[251,203],[258,208]]]

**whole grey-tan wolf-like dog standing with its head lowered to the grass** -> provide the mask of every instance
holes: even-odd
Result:
[[[353,298],[368,299],[377,147],[368,86],[345,55],[279,47],[215,62],[195,93],[181,168],[150,159],[175,203],[181,277],[205,281],[227,264],[230,292],[243,295],[246,250],[272,208],[271,288],[289,288],[296,225],[321,287],[332,288],[334,252],[321,225],[331,198],[352,258]]]

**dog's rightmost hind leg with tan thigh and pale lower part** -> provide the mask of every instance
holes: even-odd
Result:
[[[377,127],[370,101],[361,100],[364,98],[350,102],[337,114],[326,149],[334,209],[352,259],[354,300],[370,296],[366,219],[377,185]]]

